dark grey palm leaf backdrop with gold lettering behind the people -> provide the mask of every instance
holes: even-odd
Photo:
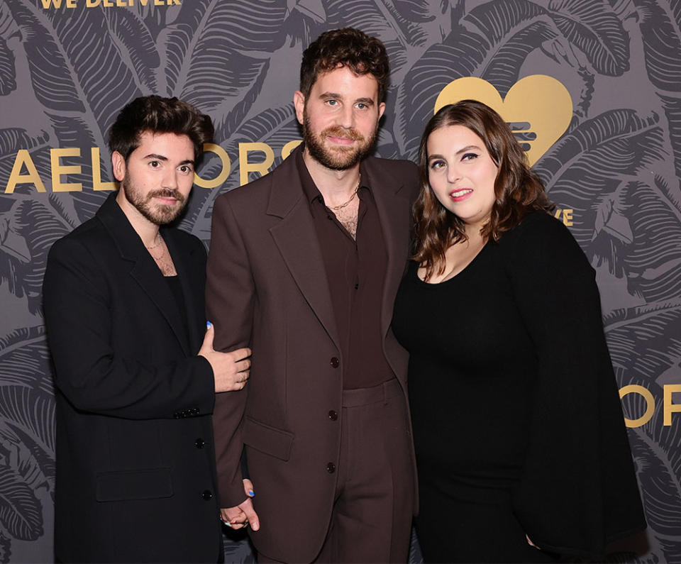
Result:
[[[436,99],[458,79],[489,83],[509,106],[526,77],[569,92],[567,126],[533,165],[597,270],[648,518],[643,553],[613,559],[681,562],[681,0],[2,0],[1,563],[52,560],[55,406],[40,286],[50,245],[113,188],[116,113],[157,93],[213,118],[218,146],[181,222],[209,245],[218,194],[300,139],[301,52],[343,26],[377,35],[392,62],[382,157],[414,160]],[[526,92],[521,109],[562,107]],[[545,119],[514,121],[528,121],[515,127],[530,130],[521,140],[546,135]],[[560,313],[556,297],[547,314]],[[226,554],[253,561],[243,538]]]

